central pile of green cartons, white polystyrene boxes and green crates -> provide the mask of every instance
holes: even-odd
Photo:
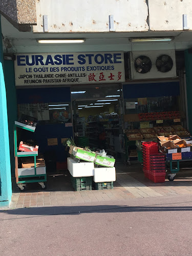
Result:
[[[104,151],[91,152],[86,148],[70,146],[68,170],[75,190],[91,190],[92,178],[95,189],[113,188],[116,180],[115,159]]]

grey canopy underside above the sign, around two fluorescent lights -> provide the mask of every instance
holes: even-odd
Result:
[[[8,38],[12,48],[8,52],[93,52],[93,51],[147,51],[184,50],[192,47],[192,31],[137,32],[137,33],[33,33],[20,32],[2,16],[2,34]],[[175,36],[170,42],[130,42],[129,37]],[[42,45],[38,38],[85,38],[83,44]]]

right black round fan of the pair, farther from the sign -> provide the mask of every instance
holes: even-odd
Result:
[[[162,73],[166,73],[172,70],[173,65],[173,59],[168,55],[161,55],[156,60],[157,70]]]

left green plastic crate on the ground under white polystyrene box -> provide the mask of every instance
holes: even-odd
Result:
[[[92,190],[92,177],[73,177],[71,183],[75,191]]]

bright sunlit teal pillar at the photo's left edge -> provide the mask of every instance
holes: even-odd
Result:
[[[7,100],[3,72],[3,45],[0,16],[0,207],[9,206],[12,196],[11,166],[9,152],[9,132]]]

